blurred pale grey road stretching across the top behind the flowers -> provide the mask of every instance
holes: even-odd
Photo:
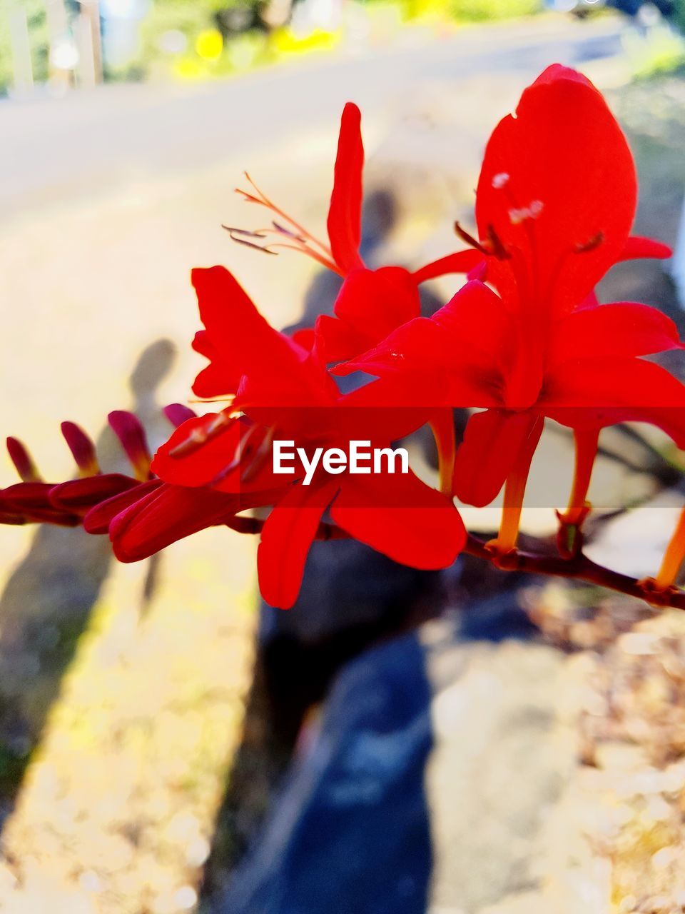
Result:
[[[398,94],[435,82],[458,93],[479,74],[517,82],[550,62],[615,55],[623,22],[544,19],[464,29],[417,44],[311,58],[240,79],[186,85],[108,86],[61,100],[0,104],[0,219],[17,210],[112,188],[160,171],[197,169],[227,156],[278,149],[333,128],[344,101],[374,115]]]

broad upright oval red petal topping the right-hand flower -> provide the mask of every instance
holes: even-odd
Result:
[[[636,200],[633,159],[604,99],[574,70],[548,68],[486,149],[480,237],[494,229],[522,255],[492,258],[490,281],[502,292],[515,281],[528,306],[572,309],[620,258]]]

